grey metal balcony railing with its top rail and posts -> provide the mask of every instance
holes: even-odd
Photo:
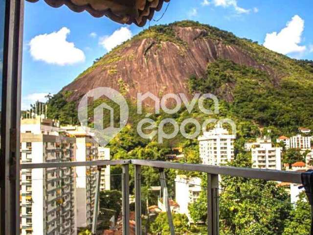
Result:
[[[268,169],[241,168],[230,166],[213,166],[204,164],[179,164],[172,162],[149,161],[149,160],[104,160],[89,162],[62,162],[62,163],[42,163],[42,164],[21,164],[22,169],[52,168],[52,167],[75,167],[75,166],[97,166],[96,190],[93,210],[92,233],[96,233],[99,190],[102,168],[106,165],[122,165],[122,218],[123,235],[130,234],[130,207],[129,207],[129,165],[134,164],[134,191],[135,191],[135,234],[141,235],[141,189],[140,172],[141,166],[150,166],[159,169],[160,184],[165,198],[165,208],[168,217],[171,235],[175,235],[175,228],[172,220],[169,198],[167,196],[167,187],[164,169],[177,169],[184,171],[196,171],[207,174],[207,234],[219,234],[219,175],[228,175],[233,177],[245,177],[253,179],[262,179],[266,181],[279,181],[294,184],[302,184],[302,173],[294,171],[278,171]],[[165,194],[165,195],[164,195]]]

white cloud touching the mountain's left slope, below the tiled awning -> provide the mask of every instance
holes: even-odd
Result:
[[[107,49],[107,51],[110,51],[114,47],[132,38],[132,36],[133,33],[128,27],[121,27],[120,29],[114,31],[110,36],[101,37],[99,44]]]

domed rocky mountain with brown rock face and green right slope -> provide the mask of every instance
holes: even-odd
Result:
[[[251,106],[247,111],[250,114],[243,117],[262,124],[273,123],[255,118],[256,109],[263,112],[287,106],[284,112],[291,115],[293,108],[302,107],[310,110],[306,118],[313,117],[312,62],[291,59],[251,40],[192,21],[150,27],[115,47],[51,100],[52,111],[69,104],[74,107],[90,89],[101,86],[112,87],[129,98],[148,91],[158,96],[201,91],[239,105],[269,100],[275,105]],[[254,90],[257,95],[253,94]],[[276,114],[269,116],[277,118]]]

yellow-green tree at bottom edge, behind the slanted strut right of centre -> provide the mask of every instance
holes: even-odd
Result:
[[[185,214],[172,214],[175,232],[178,234],[191,234],[190,226],[188,225],[188,217]],[[156,220],[150,225],[152,234],[169,235],[170,227],[168,225],[167,214],[159,213]]]

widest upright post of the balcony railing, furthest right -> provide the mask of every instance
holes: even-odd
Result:
[[[207,234],[219,235],[219,176],[207,174]]]

